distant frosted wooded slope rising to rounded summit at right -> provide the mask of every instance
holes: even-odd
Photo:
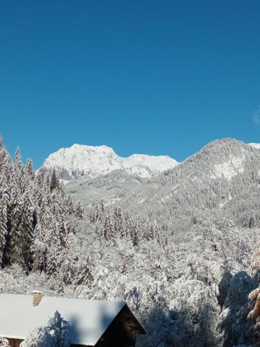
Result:
[[[254,201],[260,201],[259,169],[259,150],[236,139],[220,139],[150,180],[116,170],[85,183],[70,183],[67,189],[86,208],[103,199],[107,204],[157,219],[165,228],[173,228],[180,219],[177,228],[182,230],[204,209],[228,210],[248,225],[251,217],[242,217],[243,211],[248,211],[244,201],[252,205],[252,214],[258,211]],[[257,196],[252,203],[248,201],[250,196]]]

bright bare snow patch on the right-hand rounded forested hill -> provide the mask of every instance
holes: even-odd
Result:
[[[242,157],[230,157],[227,162],[222,162],[221,164],[215,164],[215,174],[217,177],[224,177],[227,180],[231,180],[232,177],[237,174],[242,174],[244,171],[243,162],[245,156]],[[212,176],[214,178],[214,176]]]

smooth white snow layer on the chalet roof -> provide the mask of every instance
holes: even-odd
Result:
[[[123,301],[43,296],[39,306],[33,307],[33,296],[0,294],[0,336],[25,339],[58,310],[73,328],[71,344],[95,346],[124,305]]]

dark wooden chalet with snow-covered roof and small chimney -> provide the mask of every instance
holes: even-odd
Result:
[[[68,321],[71,346],[130,347],[146,330],[123,301],[0,294],[0,337],[18,347],[58,311]]]

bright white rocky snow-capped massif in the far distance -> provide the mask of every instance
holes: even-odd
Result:
[[[49,155],[43,167],[47,170],[55,167],[62,180],[71,181],[103,176],[114,170],[125,170],[133,176],[150,178],[176,165],[177,161],[167,155],[133,154],[122,158],[107,146],[73,144]]]

